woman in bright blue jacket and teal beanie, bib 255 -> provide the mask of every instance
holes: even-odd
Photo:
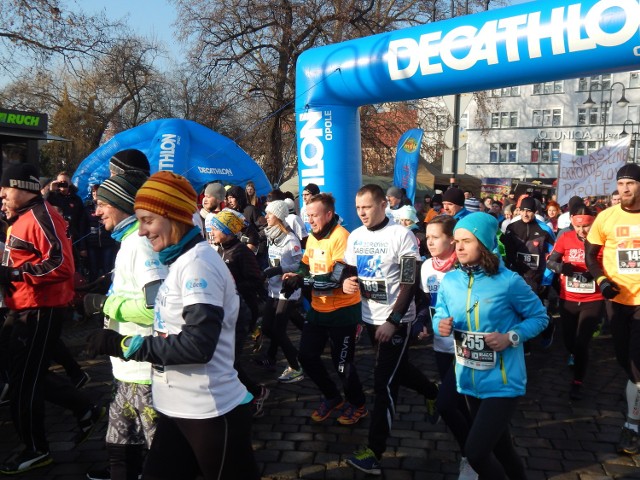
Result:
[[[523,342],[547,326],[547,312],[521,276],[493,254],[498,223],[472,213],[454,229],[460,267],[438,290],[434,331],[453,335],[458,392],[472,416],[465,453],[481,479],[524,479],[509,421],[525,394]],[[461,301],[461,292],[464,300]]]

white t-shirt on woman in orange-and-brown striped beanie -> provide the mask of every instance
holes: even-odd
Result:
[[[200,242],[169,266],[156,299],[155,335],[178,335],[184,307],[210,304],[224,310],[222,331],[206,364],[153,369],[153,404],[171,417],[219,417],[240,405],[247,389],[233,368],[239,299],[231,272],[207,242]]]

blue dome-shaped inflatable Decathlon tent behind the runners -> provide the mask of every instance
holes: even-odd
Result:
[[[214,180],[241,186],[253,180],[258,195],[272,190],[264,171],[233,140],[199,123],[168,118],[120,132],[85,158],[72,180],[79,195],[87,197],[92,184],[102,183],[109,176],[109,159],[128,148],[147,155],[151,173],[179,173],[198,192]]]

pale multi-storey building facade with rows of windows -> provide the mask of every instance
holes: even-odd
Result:
[[[485,112],[471,101],[466,173],[550,183],[561,153],[585,155],[603,142],[631,137],[640,162],[640,71],[507,87],[486,92]]]

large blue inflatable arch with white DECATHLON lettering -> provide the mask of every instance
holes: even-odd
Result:
[[[640,0],[542,0],[304,52],[296,65],[300,190],[360,225],[358,107],[640,66]]]

